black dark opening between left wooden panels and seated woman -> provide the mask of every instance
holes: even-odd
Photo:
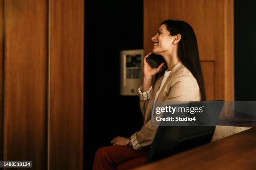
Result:
[[[98,148],[142,127],[138,96],[120,96],[120,51],[143,49],[143,0],[85,0],[84,168]]]

